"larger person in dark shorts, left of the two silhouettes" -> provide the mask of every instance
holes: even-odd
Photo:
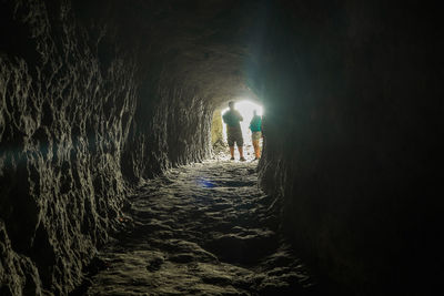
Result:
[[[243,157],[243,137],[241,131],[241,121],[243,121],[242,115],[238,110],[234,109],[234,102],[229,103],[230,110],[223,113],[222,119],[226,124],[226,135],[230,146],[231,160],[234,161],[234,143],[238,145],[240,161],[244,162]]]

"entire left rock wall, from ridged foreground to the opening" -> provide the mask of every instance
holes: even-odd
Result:
[[[103,4],[0,3],[1,295],[67,295],[138,182],[210,153],[209,105]]]

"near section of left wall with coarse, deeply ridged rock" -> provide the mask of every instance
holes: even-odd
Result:
[[[1,10],[11,30],[0,55],[1,294],[67,294],[122,206],[133,67],[114,57],[103,69],[89,44],[100,39],[68,2]]]

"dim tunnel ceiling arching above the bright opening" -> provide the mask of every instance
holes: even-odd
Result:
[[[192,88],[215,106],[238,96],[255,99],[245,85],[245,58],[260,40],[263,4],[140,0],[115,3],[108,11],[95,9],[118,19],[124,28],[120,33],[138,49],[145,72],[152,74],[157,68],[164,80]]]

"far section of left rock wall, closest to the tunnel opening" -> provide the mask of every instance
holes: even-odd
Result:
[[[159,76],[157,83],[141,88],[127,143],[124,172],[132,181],[202,161],[211,153],[211,104],[182,81]]]

